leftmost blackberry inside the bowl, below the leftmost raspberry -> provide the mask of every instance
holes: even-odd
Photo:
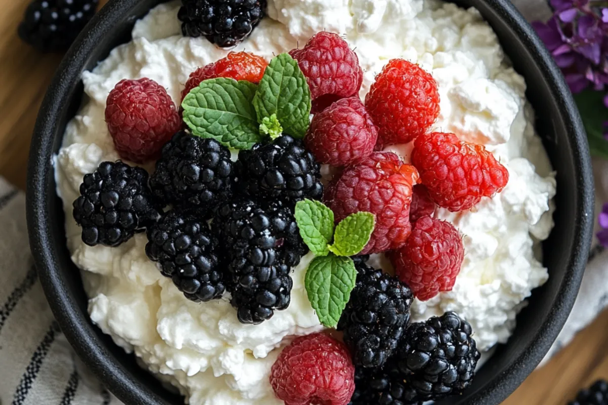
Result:
[[[160,216],[148,189],[148,173],[120,160],[102,162],[86,174],[73,206],[82,240],[89,246],[118,246]]]

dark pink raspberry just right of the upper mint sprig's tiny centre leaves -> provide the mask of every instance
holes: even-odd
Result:
[[[317,162],[345,166],[370,155],[377,138],[361,100],[349,97],[316,114],[304,139]]]

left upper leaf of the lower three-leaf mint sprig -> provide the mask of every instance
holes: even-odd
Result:
[[[315,256],[329,253],[327,243],[334,234],[334,213],[322,202],[303,200],[295,204],[295,221],[300,236]]]

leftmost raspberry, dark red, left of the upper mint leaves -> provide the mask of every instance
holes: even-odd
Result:
[[[106,123],[119,155],[136,163],[157,159],[181,126],[167,90],[148,78],[116,84],[106,100]]]

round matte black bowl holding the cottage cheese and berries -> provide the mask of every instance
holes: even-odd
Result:
[[[182,399],[137,367],[108,336],[91,324],[80,274],[64,236],[64,214],[55,194],[52,155],[66,123],[81,102],[80,75],[118,44],[130,40],[136,19],[161,0],[114,0],[95,16],[64,58],[44,98],[30,152],[27,219],[32,253],[52,310],[78,355],[127,404],[179,404]],[[550,277],[517,317],[517,328],[500,345],[465,395],[452,404],[499,404],[541,361],[561,330],[578,292],[593,223],[593,181],[589,150],[570,92],[551,56],[508,0],[463,0],[496,30],[507,55],[528,83],[536,128],[557,170],[555,228],[544,243]],[[370,404],[371,405],[371,404]]]

